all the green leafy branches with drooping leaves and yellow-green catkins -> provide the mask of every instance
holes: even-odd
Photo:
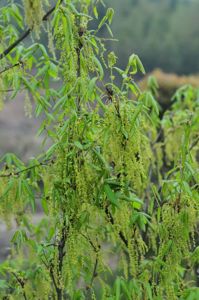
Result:
[[[14,26],[7,11],[21,26],[23,19],[10,2],[2,9],[0,84],[4,94],[13,89],[10,100],[25,90],[29,116],[30,97],[34,99],[35,118],[45,116],[36,138],[45,133],[40,149],[46,140],[51,146],[30,158],[28,166],[11,153],[1,159],[1,219],[8,230],[12,218],[17,225],[0,269],[6,279],[0,281],[2,299],[197,298],[198,288],[192,287],[196,274],[190,272],[198,263],[199,172],[196,148],[191,151],[196,140],[189,145],[197,138],[198,118],[193,116],[198,114],[198,91],[190,85],[180,88],[172,112],[160,120],[153,98],[156,80],[151,77],[150,91],[141,92],[131,77],[137,71],[145,74],[138,56],[132,54],[122,70],[111,52],[106,66],[103,39],[97,33],[104,24],[110,32],[113,9],[108,8],[98,28],[90,30],[93,17],[98,18],[97,1],[58,1],[45,16],[42,1],[35,1],[36,6],[23,3],[28,33],[39,38],[42,21],[47,20],[49,50],[41,43],[25,49],[20,39],[16,41],[17,34],[14,40],[10,35],[12,58],[6,37]],[[102,81],[106,67],[110,83]],[[114,84],[113,71],[122,77],[121,88]],[[131,100],[132,92],[136,101]],[[176,132],[181,140],[172,160],[167,146]],[[162,181],[163,146],[166,160],[174,166]],[[46,217],[34,225],[37,198]],[[107,252],[111,257],[120,253],[112,287],[105,281],[112,275]]]

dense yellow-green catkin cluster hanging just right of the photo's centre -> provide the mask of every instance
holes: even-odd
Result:
[[[142,178],[146,177],[141,155],[144,138],[138,129],[129,138],[132,126],[130,113],[124,108],[120,114],[121,119],[116,116],[114,105],[111,105],[105,115],[105,128],[110,126],[105,151],[112,156],[115,173],[126,173],[126,179],[133,182],[134,188],[139,188]]]

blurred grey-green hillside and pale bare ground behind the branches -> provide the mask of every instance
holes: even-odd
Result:
[[[181,79],[176,75],[172,75],[173,77],[168,74],[164,76],[162,72],[177,75],[191,74],[192,78],[196,76],[196,80],[194,80],[196,87],[199,69],[199,0],[103,1],[106,8],[99,1],[98,20],[94,17],[94,21],[89,23],[89,27],[95,29],[105,15],[107,8],[112,7],[114,9],[114,17],[110,27],[113,38],[118,41],[104,41],[107,49],[104,54],[105,61],[107,61],[107,55],[113,51],[118,57],[116,66],[125,69],[129,56],[135,53],[142,61],[146,75],[149,75],[156,68],[161,69],[162,71],[155,71],[154,75],[157,76],[159,84],[164,85],[164,93],[169,90],[166,98],[162,96],[164,98],[162,101],[168,101],[168,97],[172,96],[175,89],[188,80],[188,77],[185,76],[183,76],[183,80],[182,76]],[[20,9],[23,15],[22,1],[17,0],[16,2],[21,5]],[[57,1],[50,0],[49,2],[51,6],[54,6]],[[7,0],[1,0],[0,8],[6,4]],[[44,5],[44,9],[48,11],[49,7]],[[23,33],[19,26],[17,29],[20,34]],[[99,37],[111,38],[106,26],[100,30]],[[41,36],[40,42],[48,49],[46,34]],[[30,35],[23,40],[23,43],[26,47],[33,43]],[[39,59],[38,55],[40,52],[35,55],[37,59]],[[56,55],[59,59],[59,50],[56,50]],[[35,75],[36,70],[33,69],[32,71]],[[120,86],[122,77],[116,71],[114,75],[117,75],[114,84]],[[105,83],[110,82],[109,76],[110,73],[107,70],[103,79]],[[133,75],[133,78],[135,82],[138,82],[144,78],[144,75],[138,71],[137,74]],[[167,80],[166,83],[164,80]],[[144,83],[141,87],[143,90]],[[27,162],[29,157],[38,153],[41,140],[44,138],[41,135],[35,143],[34,137],[38,132],[41,120],[35,122],[34,118],[29,120],[28,117],[25,117],[23,92],[18,93],[13,100],[8,101],[10,95],[7,95],[5,108],[0,113],[0,156],[2,157],[6,152],[15,152],[19,158]],[[161,99],[158,100],[161,102]],[[33,101],[32,104],[34,114],[35,104]],[[47,143],[46,146],[48,147]]]

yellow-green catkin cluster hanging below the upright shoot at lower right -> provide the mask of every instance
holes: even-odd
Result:
[[[164,224],[166,230],[163,230],[163,237],[160,238],[158,253],[158,257],[160,259],[162,259],[162,252],[165,249],[165,245],[169,240],[172,240],[170,249],[168,249],[165,253],[165,262],[168,267],[164,268],[164,273],[167,277],[167,279],[165,279],[165,287],[168,299],[175,299],[172,276],[176,277],[179,288],[183,284],[183,280],[179,276],[179,265],[181,263],[181,259],[177,253],[180,255],[183,253],[184,255],[189,256],[188,248],[191,248],[190,241],[187,240],[186,235],[182,232],[184,225],[181,218],[179,218],[179,215],[181,215],[183,211],[187,211],[189,214],[186,226],[189,234],[193,238],[193,244],[195,245],[194,226],[196,208],[192,199],[190,199],[187,195],[184,195],[181,197],[179,204],[175,202],[165,203],[162,207],[162,224]],[[162,278],[161,275],[160,278]]]

